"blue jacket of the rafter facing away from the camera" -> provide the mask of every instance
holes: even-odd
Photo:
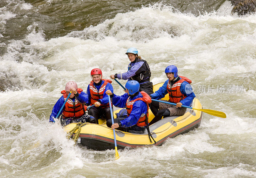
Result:
[[[122,96],[115,95],[112,97],[112,102],[116,107],[124,108],[126,106],[126,101],[128,99],[129,95],[125,93]],[[143,97],[142,94],[139,92],[139,94],[133,98],[130,97],[130,101]],[[137,124],[138,120],[140,119],[140,116],[142,113],[147,114],[147,104],[144,101],[138,100],[135,101],[132,106],[132,112],[129,115],[129,117],[125,118],[124,120],[121,120],[122,127],[131,127],[135,124]]]

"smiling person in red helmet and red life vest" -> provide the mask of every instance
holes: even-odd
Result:
[[[92,115],[97,120],[97,123],[101,117],[105,118],[106,121],[111,120],[108,95],[105,93],[105,90],[109,89],[113,92],[112,81],[102,79],[102,72],[97,68],[92,69],[91,77],[92,81],[88,85],[87,94],[89,103],[91,105],[95,104],[95,106],[89,109],[88,114]]]

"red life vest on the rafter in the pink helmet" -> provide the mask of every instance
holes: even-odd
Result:
[[[77,93],[81,93],[83,89],[77,89]],[[66,101],[68,94],[66,93],[66,90],[62,90],[61,94],[63,94],[64,100]],[[75,99],[75,103],[68,98],[68,101],[65,103],[64,110],[62,112],[62,117],[65,118],[79,118],[82,115],[84,115],[85,111],[87,109],[87,106],[81,104],[77,99]]]

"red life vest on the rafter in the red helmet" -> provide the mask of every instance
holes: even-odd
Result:
[[[103,98],[103,94],[105,92],[106,85],[108,83],[112,83],[112,81],[108,80],[108,79],[101,79],[101,80],[104,81],[104,83],[101,85],[99,91],[96,87],[94,87],[93,81],[91,81],[91,83],[90,83],[91,105],[94,104],[95,102],[99,101],[99,99]],[[109,107],[109,103],[108,104],[100,104],[100,107],[101,108]]]

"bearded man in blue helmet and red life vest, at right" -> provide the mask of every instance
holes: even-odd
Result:
[[[178,69],[176,66],[171,65],[165,68],[165,74],[168,78],[155,93],[151,94],[152,99],[161,99],[167,93],[169,94],[169,101],[176,103],[177,105],[165,104],[153,101],[151,103],[151,111],[155,115],[155,118],[150,122],[150,125],[162,117],[168,116],[182,116],[185,114],[187,108],[181,107],[181,105],[191,106],[193,99],[196,97],[190,85],[191,80],[186,77],[178,76]],[[162,100],[165,101],[165,100]]]

